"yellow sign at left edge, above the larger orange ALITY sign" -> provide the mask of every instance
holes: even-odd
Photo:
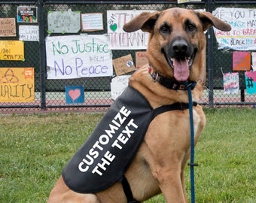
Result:
[[[0,60],[24,61],[23,41],[0,41]]]

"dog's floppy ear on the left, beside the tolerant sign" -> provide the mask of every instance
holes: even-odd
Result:
[[[144,32],[151,32],[159,14],[159,11],[155,11],[154,13],[142,12],[142,14],[139,14],[128,23],[124,24],[123,30],[125,32],[135,32],[142,29]]]

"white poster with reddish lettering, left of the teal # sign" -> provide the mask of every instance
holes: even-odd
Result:
[[[224,94],[235,94],[239,91],[239,74],[224,73],[223,74]]]

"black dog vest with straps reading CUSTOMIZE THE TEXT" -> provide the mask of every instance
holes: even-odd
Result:
[[[133,198],[124,174],[139,150],[149,124],[158,114],[187,108],[188,104],[175,103],[152,109],[140,92],[128,86],[63,169],[66,185],[75,192],[94,193],[119,181],[127,201],[138,202]]]

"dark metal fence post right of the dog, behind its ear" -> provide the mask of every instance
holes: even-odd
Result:
[[[207,10],[212,13],[212,0],[207,0]],[[213,108],[214,92],[213,92],[213,29],[208,29],[207,32],[207,67],[208,67],[208,80],[209,80],[209,107]]]

